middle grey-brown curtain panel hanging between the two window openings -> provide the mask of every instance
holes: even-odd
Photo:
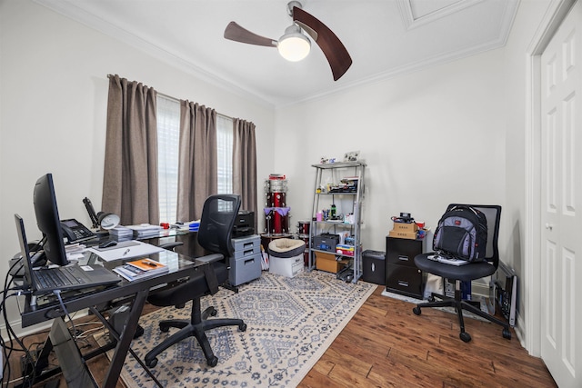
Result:
[[[218,191],[216,111],[180,100],[177,219],[198,220],[206,198]]]

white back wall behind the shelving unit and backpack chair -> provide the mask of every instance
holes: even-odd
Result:
[[[275,144],[286,147],[275,170],[294,222],[311,214],[311,164],[354,150],[367,164],[363,249],[385,251],[400,212],[434,230],[447,204],[504,205],[502,62],[490,51],[278,110]]]

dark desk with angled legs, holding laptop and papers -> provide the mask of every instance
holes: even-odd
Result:
[[[210,290],[216,292],[218,284],[216,275],[212,270],[212,266],[204,262],[204,257],[191,259],[183,254],[176,254],[175,252],[162,251],[157,254],[150,254],[150,258],[168,265],[169,271],[166,274],[143,279],[140,281],[129,282],[122,280],[119,284],[110,286],[105,289],[85,290],[85,292],[71,292],[62,293],[66,311],[72,313],[86,308],[91,309],[95,315],[105,324],[110,327],[105,317],[100,313],[100,309],[95,306],[107,305],[115,301],[130,302],[131,313],[129,313],[123,333],[119,333],[119,340],[116,342],[115,353],[109,365],[109,370],[105,377],[103,386],[105,388],[115,387],[115,383],[119,379],[119,375],[125,362],[125,356],[129,352],[129,347],[135,335],[137,323],[142,313],[146,297],[150,290],[156,292],[156,289],[163,288],[165,284],[176,282],[180,279],[194,275],[203,271],[206,275],[206,281]],[[129,259],[132,260],[132,259]],[[127,261],[127,260],[125,260]],[[115,260],[110,262],[102,261],[96,254],[85,254],[85,261],[80,261],[79,264],[103,264],[106,268],[113,269],[118,265],[123,264],[123,260]],[[54,295],[45,295],[38,297],[36,305],[32,306],[31,296],[26,295],[24,303],[21,304],[21,318],[23,327],[30,326],[35,323],[43,323],[49,319],[63,317],[63,311],[60,303]],[[103,352],[102,352],[103,353]],[[95,355],[98,355],[96,353]],[[44,365],[35,366],[35,368],[43,369]],[[58,373],[58,371],[57,371]],[[45,380],[46,378],[55,375],[54,372],[43,373],[42,370],[36,370],[35,382]],[[33,382],[33,383],[35,383]],[[32,384],[31,384],[32,385]]]

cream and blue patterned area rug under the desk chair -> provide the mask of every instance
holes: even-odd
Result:
[[[220,289],[202,299],[202,308],[215,306],[216,317],[242,318],[246,332],[236,326],[206,332],[218,364],[206,365],[196,339],[189,338],[158,356],[152,372],[165,387],[293,387],[303,380],[337,334],[346,326],[376,284],[347,284],[335,274],[313,271],[286,278],[264,272],[239,287]],[[162,333],[158,322],[189,318],[184,309],[164,308],[143,316],[145,333],[132,343],[140,358],[176,329]],[[155,387],[146,372],[128,355],[122,378],[130,387]]]

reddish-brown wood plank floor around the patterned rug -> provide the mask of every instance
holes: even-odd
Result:
[[[300,387],[557,386],[545,364],[527,355],[513,330],[508,341],[500,326],[466,319],[473,340],[464,343],[456,315],[425,309],[416,316],[413,304],[382,296],[382,290],[378,286]],[[149,311],[151,307],[145,313]],[[26,343],[45,335],[29,336]],[[15,359],[12,364],[19,369]],[[107,366],[105,356],[89,363],[97,381]],[[59,387],[65,387],[63,379]]]

